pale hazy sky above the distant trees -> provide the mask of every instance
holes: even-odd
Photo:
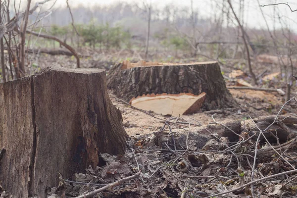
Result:
[[[25,0],[23,0],[23,2],[24,1]],[[54,0],[52,0],[51,2],[53,1]],[[68,0],[71,7],[79,5],[92,7],[94,5],[110,5],[116,2],[132,3],[140,1],[142,0]],[[51,4],[51,2],[49,1],[48,4]],[[155,7],[162,7],[166,4],[174,4],[176,6],[191,5],[191,0],[151,0],[151,2]],[[198,14],[203,17],[213,16],[215,13],[215,11],[213,10],[214,5],[216,4],[216,2],[222,2],[222,0],[193,0],[193,2],[195,9],[198,10]],[[232,0],[232,2],[235,9],[238,8],[240,0]],[[293,10],[297,9],[296,0],[259,0],[259,2],[260,4],[288,2]],[[66,7],[66,0],[57,0],[55,7]],[[289,7],[287,7],[286,5],[262,7],[264,14],[267,17],[270,28],[273,28],[272,16],[274,15],[274,7],[276,7],[276,10],[278,10],[278,13],[282,16],[282,18],[284,20],[286,19],[286,21],[288,22],[288,26],[297,33],[297,11],[291,13]],[[245,0],[245,21],[250,27],[266,28],[257,0]],[[280,27],[279,24],[276,24],[276,26]]]

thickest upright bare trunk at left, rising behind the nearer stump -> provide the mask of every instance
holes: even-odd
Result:
[[[27,24],[28,24],[30,4],[31,4],[31,0],[28,0],[27,1],[26,13],[25,13],[24,19],[23,19],[22,24],[21,24],[21,29],[20,29],[20,36],[21,36],[20,59],[21,59],[21,62],[19,64],[19,66],[20,66],[21,76],[25,76],[25,73],[26,73],[25,72],[25,42],[26,42],[26,29],[27,29]]]

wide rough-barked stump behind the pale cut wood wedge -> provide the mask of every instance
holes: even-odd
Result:
[[[156,66],[150,66],[153,64]],[[205,92],[204,110],[233,107],[235,104],[217,62],[144,65],[129,62],[118,64],[108,73],[107,87],[127,102],[148,94],[199,95]]]

